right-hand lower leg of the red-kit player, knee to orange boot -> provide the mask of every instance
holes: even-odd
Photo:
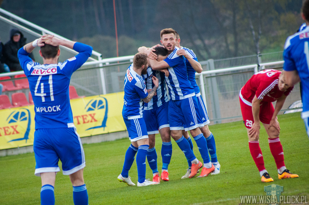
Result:
[[[296,178],[297,174],[292,174],[288,169],[286,169],[284,164],[284,154],[283,148],[279,139],[280,130],[275,128],[274,126],[270,126],[268,124],[263,123],[263,126],[268,135],[268,143],[270,152],[275,159],[277,170],[278,170],[278,178]]]

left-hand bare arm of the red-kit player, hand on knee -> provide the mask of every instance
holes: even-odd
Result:
[[[259,113],[260,113],[260,102],[262,100],[257,99],[256,95],[254,96],[252,100],[252,114],[253,114],[253,119],[254,123],[249,130],[249,138],[254,138],[258,139],[260,135],[260,118],[259,118]]]

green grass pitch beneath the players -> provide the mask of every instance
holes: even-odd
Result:
[[[170,181],[146,187],[127,186],[117,180],[122,170],[129,140],[121,139],[97,144],[84,144],[86,167],[85,183],[89,204],[239,204],[240,195],[265,195],[264,186],[284,186],[282,195],[307,195],[309,200],[309,140],[300,113],[278,116],[286,167],[299,178],[277,177],[267,135],[261,126],[260,146],[265,167],[274,179],[262,183],[251,158],[248,138],[242,121],[210,126],[216,139],[221,172],[205,178],[181,179],[187,169],[185,155],[174,140],[169,166]],[[161,139],[157,135],[158,167],[161,171]],[[194,144],[194,152],[201,155]],[[61,163],[59,163],[61,166]],[[40,204],[41,179],[34,175],[33,153],[0,157],[0,204]],[[137,183],[134,161],[129,172]],[[146,178],[152,179],[147,164]],[[59,172],[55,185],[56,204],[73,204],[72,185],[68,176]]]

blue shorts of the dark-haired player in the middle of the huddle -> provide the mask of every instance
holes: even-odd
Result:
[[[151,110],[144,110],[143,118],[146,123],[148,134],[159,134],[159,130],[170,127],[169,102]]]

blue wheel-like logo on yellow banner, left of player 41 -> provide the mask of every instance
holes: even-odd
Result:
[[[17,135],[19,138],[12,139],[9,142],[22,141],[29,139],[29,132],[31,126],[31,114],[26,108],[13,111],[7,118],[7,122],[10,126],[4,127],[5,135]],[[24,134],[24,136],[23,136]],[[1,135],[1,134],[0,134]],[[22,135],[23,137],[21,137]]]

